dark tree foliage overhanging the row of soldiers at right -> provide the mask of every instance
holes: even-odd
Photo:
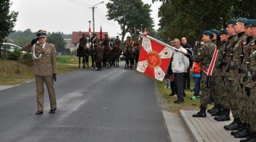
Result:
[[[188,37],[190,43],[200,40],[205,29],[225,27],[228,19],[256,18],[255,1],[251,0],[153,0],[162,1],[159,8],[159,33],[162,38]]]

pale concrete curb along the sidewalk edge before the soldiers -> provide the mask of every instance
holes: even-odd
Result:
[[[180,118],[182,119],[182,122],[186,127],[188,128],[188,131],[193,139],[193,141],[197,142],[204,142],[202,137],[199,135],[198,131],[196,131],[196,128],[192,125],[190,120],[188,119],[188,116],[183,110],[180,110]]]

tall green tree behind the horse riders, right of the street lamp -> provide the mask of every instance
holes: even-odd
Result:
[[[150,17],[150,7],[151,5],[143,4],[141,0],[110,0],[107,3],[107,19],[113,19],[119,23],[122,30],[122,43],[126,33],[130,32],[132,36],[135,36],[131,32],[131,29],[134,27],[140,29],[141,23],[149,31],[153,31],[153,19]]]

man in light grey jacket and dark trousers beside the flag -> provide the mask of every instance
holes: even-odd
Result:
[[[174,47],[179,50],[185,50],[180,46],[180,40],[178,38],[174,39]],[[181,52],[174,52],[172,60],[172,72],[174,72],[174,81],[177,87],[177,100],[174,101],[176,104],[184,102],[184,72],[188,69],[189,60]]]

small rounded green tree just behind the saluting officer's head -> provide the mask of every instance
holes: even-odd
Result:
[[[47,37],[47,42],[54,44],[57,52],[64,52],[66,50],[66,42],[64,42],[61,33],[50,33],[50,36]]]

